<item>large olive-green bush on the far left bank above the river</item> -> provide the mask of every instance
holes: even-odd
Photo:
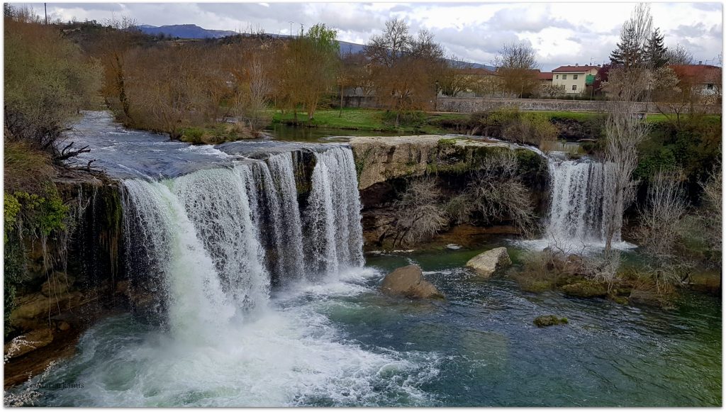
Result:
[[[4,40],[4,126],[12,140],[60,155],[55,142],[95,97],[100,67],[49,25],[6,17]]]

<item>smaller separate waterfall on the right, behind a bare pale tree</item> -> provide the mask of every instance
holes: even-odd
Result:
[[[595,161],[550,159],[552,200],[547,234],[563,243],[605,240],[613,207],[611,166]],[[574,241],[574,242],[573,242]],[[613,242],[620,241],[616,233]]]

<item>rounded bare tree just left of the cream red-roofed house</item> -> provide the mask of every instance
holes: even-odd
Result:
[[[523,97],[537,89],[537,52],[523,43],[505,44],[494,60],[505,92]]]

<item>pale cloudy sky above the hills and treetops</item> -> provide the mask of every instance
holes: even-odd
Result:
[[[42,4],[35,4],[41,9]],[[115,15],[139,24],[196,24],[203,28],[290,33],[318,22],[338,29],[338,39],[364,44],[386,20],[403,18],[415,33],[431,31],[448,54],[491,64],[505,42],[529,42],[542,70],[601,63],[619,39],[635,3],[76,3],[48,4],[62,20],[99,20]],[[656,3],[653,23],[666,46],[682,44],[709,63],[722,53],[722,4]]]

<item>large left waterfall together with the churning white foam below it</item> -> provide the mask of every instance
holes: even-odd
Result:
[[[303,213],[290,153],[160,182],[124,181],[131,287],[139,292],[135,296],[144,295],[140,303],[152,302],[152,313],[166,319],[171,333],[158,334],[153,324],[129,318],[97,327],[81,342],[83,355],[60,376],[81,368],[83,379],[99,383],[80,393],[62,392],[51,404],[362,405],[370,402],[371,388],[382,385],[408,403],[425,401],[409,379],[435,376],[436,357],[380,354],[348,344],[317,312],[319,299],[309,297],[360,293],[364,288],[349,282],[374,271],[303,281],[280,290],[277,299],[269,297],[273,272],[285,283],[314,279],[290,273],[327,274],[363,264],[351,150],[335,147],[314,157]],[[303,244],[303,238],[311,242]],[[304,262],[311,250],[311,263]],[[400,380],[391,378],[398,375]]]

